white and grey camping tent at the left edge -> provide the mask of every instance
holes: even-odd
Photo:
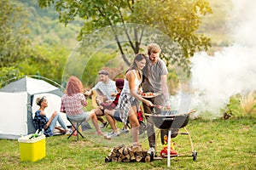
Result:
[[[11,82],[0,89],[0,139],[18,139],[20,135],[35,133],[32,123],[34,112],[38,109],[35,100],[45,96],[49,107],[45,109],[47,116],[60,111],[61,90],[55,86],[31,77],[24,77]],[[60,113],[66,125],[66,114]]]

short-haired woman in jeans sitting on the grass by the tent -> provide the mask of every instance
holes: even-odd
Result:
[[[48,107],[48,102],[45,97],[38,98],[36,103],[40,108],[36,111],[33,122],[39,132],[44,129],[44,135],[46,137],[52,136],[54,129],[60,130],[61,133],[69,133],[65,122],[63,122],[61,116],[56,111],[49,118],[45,116],[44,109]],[[56,122],[59,122],[63,129],[56,127]]]

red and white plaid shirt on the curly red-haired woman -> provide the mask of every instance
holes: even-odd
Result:
[[[73,94],[69,96],[64,94],[61,97],[61,112],[68,116],[80,115],[83,113],[83,106],[87,105],[84,94]]]

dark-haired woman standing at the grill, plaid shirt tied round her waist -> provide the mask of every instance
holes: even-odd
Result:
[[[142,82],[141,71],[146,65],[144,54],[137,54],[131,67],[125,73],[125,85],[119,98],[119,112],[122,122],[125,124],[129,120],[131,124],[131,138],[133,146],[141,146],[138,142],[138,127],[140,126],[137,120],[137,111],[139,102],[153,107],[154,105],[147,99],[141,97],[139,86]]]

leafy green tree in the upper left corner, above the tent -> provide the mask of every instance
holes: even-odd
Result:
[[[16,63],[33,54],[28,29],[26,13],[22,8],[15,7],[9,0],[0,2],[0,69],[16,66]]]

